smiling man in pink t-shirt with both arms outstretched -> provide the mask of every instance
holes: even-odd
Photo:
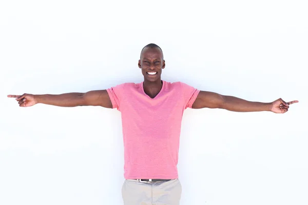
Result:
[[[61,106],[102,106],[121,112],[124,140],[122,196],[125,205],[178,205],[182,187],[178,179],[181,120],[186,108],[221,108],[236,112],[285,113],[281,98],[272,103],[246,101],[233,96],[200,91],[187,84],[161,80],[163,52],[156,44],[145,46],[138,66],[142,83],[124,83],[107,90],[60,95],[8,95],[21,107],[38,103]]]

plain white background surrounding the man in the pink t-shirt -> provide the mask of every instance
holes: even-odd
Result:
[[[8,94],[60,94],[162,79],[251,101],[299,100],[285,114],[187,109],[181,205],[308,204],[305,1],[2,1],[0,204],[123,204],[121,113],[18,107]]]

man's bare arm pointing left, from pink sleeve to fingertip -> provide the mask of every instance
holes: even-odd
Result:
[[[17,97],[16,100],[20,107],[30,107],[38,103],[60,106],[60,107],[76,107],[76,106],[102,106],[112,108],[112,103],[107,90],[93,90],[86,93],[63,93],[59,95],[8,95],[8,97]]]

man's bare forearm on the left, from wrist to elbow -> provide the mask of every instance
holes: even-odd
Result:
[[[84,93],[63,93],[59,95],[34,95],[36,103],[60,107],[76,107],[83,104],[82,95]]]

